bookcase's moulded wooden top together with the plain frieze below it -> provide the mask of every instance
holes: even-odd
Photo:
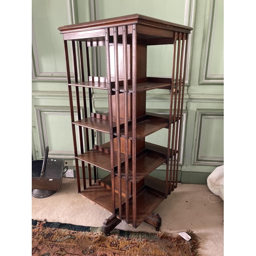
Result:
[[[127,26],[127,34],[133,33],[133,25],[137,25],[137,39],[146,45],[173,44],[175,32],[190,33],[193,28],[179,25],[166,20],[152,18],[141,14],[131,14],[114,18],[95,20],[59,27],[64,40],[102,41],[105,38],[105,28],[110,28],[110,36],[114,34],[113,27],[118,27],[118,35],[122,35],[122,26]],[[129,38],[128,38],[129,39]],[[163,41],[164,40],[164,41]]]

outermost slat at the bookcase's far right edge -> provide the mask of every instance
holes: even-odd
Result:
[[[186,39],[186,40],[185,40]],[[185,88],[185,79],[186,79],[186,64],[187,64],[187,48],[188,48],[188,34],[183,34],[183,43],[186,43],[185,47],[185,57],[184,57],[184,68],[183,68],[183,77],[182,77],[182,92],[181,92],[181,110],[180,110],[180,134],[179,134],[179,142],[178,142],[178,161],[180,156],[180,138],[181,138],[181,126],[182,126],[182,113],[183,113],[183,99],[184,99],[184,88]],[[184,45],[183,45],[184,47]],[[176,187],[178,183],[178,172],[176,174]]]

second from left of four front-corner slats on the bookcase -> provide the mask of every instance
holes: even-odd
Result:
[[[116,95],[116,134],[117,134],[117,177],[119,198],[119,219],[122,219],[122,181],[121,181],[121,144],[120,144],[120,104],[119,104],[119,73],[118,73],[118,28],[114,27],[114,58],[115,58],[115,95]]]

